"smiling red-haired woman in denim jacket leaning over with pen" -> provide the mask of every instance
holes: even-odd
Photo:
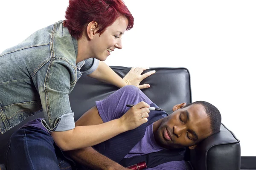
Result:
[[[123,33],[133,27],[134,19],[121,0],[70,0],[65,17],[0,54],[1,133],[41,110],[45,116],[42,123],[22,127],[12,136],[9,170],[58,169],[53,144],[64,151],[89,147],[147,122],[147,116],[138,119],[149,112],[143,102],[119,119],[75,127],[68,95],[81,73],[119,88],[148,88],[139,83],[154,72],[141,75],[142,68],[132,68],[121,79],[102,62],[122,48]]]

